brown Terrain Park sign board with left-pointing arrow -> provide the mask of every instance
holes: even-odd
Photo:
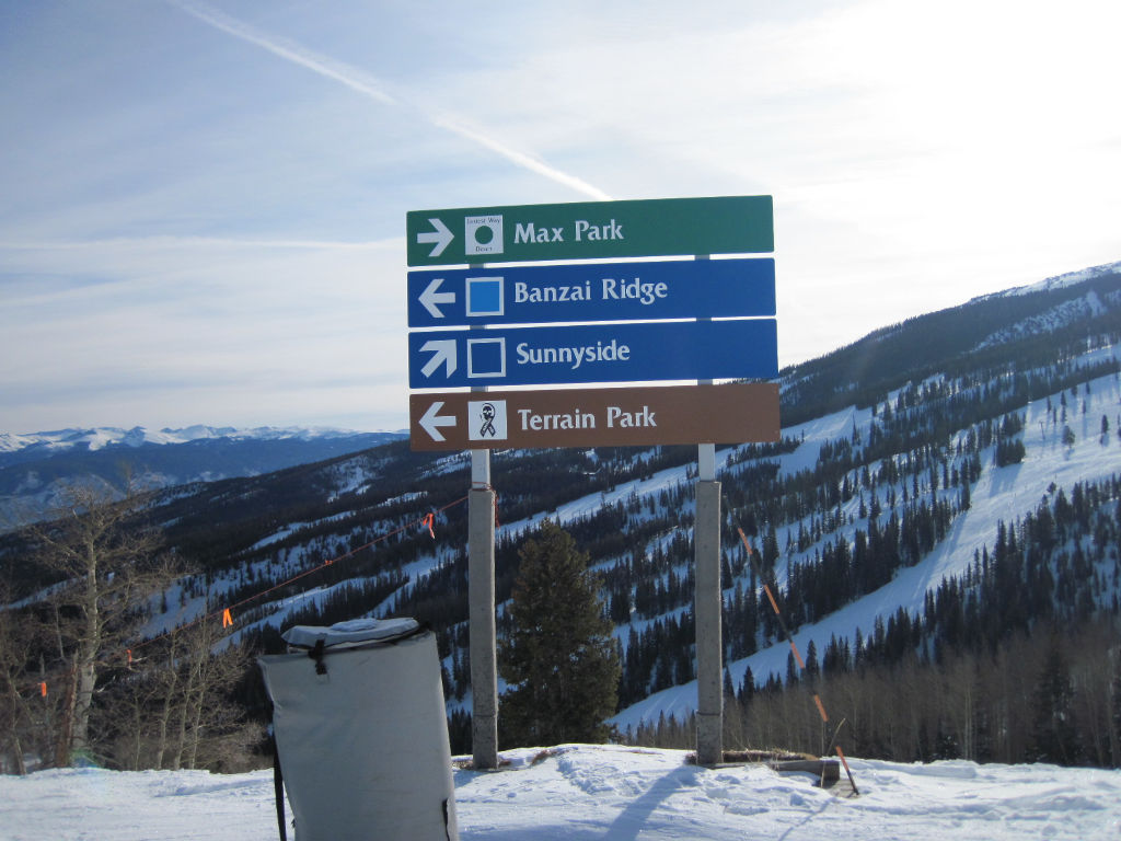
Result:
[[[778,441],[769,382],[409,396],[414,450]]]

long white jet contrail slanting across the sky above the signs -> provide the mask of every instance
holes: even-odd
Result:
[[[451,131],[453,135],[457,135],[465,140],[470,140],[471,142],[482,146],[483,148],[498,153],[516,166],[520,166],[524,169],[543,175],[557,184],[563,184],[564,186],[581,192],[596,201],[611,200],[611,196],[602,190],[589,184],[582,178],[564,173],[556,167],[552,167],[545,161],[535,158],[532,155],[512,149],[494,138],[488,137],[487,135],[475,131],[474,129],[470,129],[457,122],[452,117],[428,113],[416,105],[400,101],[396,96],[386,93],[377,80],[356,67],[332,61],[326,56],[317,55],[290,40],[265,35],[248,24],[204,6],[203,3],[194,2],[193,0],[168,0],[168,2],[204,24],[207,24],[215,29],[220,29],[226,35],[232,35],[234,38],[240,38],[243,41],[258,46],[262,49],[267,49],[269,53],[272,53],[280,58],[298,64],[300,67],[305,67],[313,73],[318,73],[321,76],[326,76],[327,78],[332,78],[335,82],[344,84],[352,91],[356,91],[358,93],[377,100],[382,104],[397,105],[398,108],[410,110],[433,126]]]

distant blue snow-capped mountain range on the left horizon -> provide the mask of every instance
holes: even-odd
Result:
[[[406,432],[327,427],[133,426],[0,432],[0,530],[47,516],[70,484],[111,493],[271,473],[396,441]]]

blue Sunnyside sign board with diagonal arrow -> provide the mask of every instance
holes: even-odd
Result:
[[[773,318],[409,333],[409,388],[777,376]]]

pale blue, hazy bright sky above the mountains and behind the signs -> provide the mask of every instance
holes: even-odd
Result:
[[[1119,260],[1119,30],[1111,0],[0,0],[0,431],[407,426],[410,210],[772,195],[782,366]]]

